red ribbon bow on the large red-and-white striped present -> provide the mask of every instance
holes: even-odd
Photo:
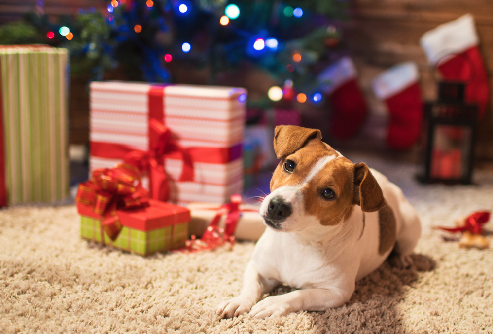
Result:
[[[128,152],[123,161],[137,167],[141,173],[147,173],[149,177],[150,197],[166,202],[169,200],[170,188],[168,176],[164,171],[164,156],[171,152],[180,152],[183,160],[183,168],[179,181],[193,180],[192,158],[187,149],[179,146],[171,138],[171,131],[156,119],[149,120],[149,128],[157,136],[155,144],[149,151],[133,150]]]

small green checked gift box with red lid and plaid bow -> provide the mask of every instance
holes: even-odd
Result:
[[[190,211],[147,198],[131,165],[100,169],[79,186],[81,237],[147,256],[185,245]]]

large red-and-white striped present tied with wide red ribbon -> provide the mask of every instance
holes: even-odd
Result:
[[[243,188],[245,100],[241,88],[92,82],[90,170],[125,160],[147,170],[152,198],[225,203]]]

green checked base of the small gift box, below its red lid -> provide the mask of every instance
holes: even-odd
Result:
[[[116,240],[111,241],[101,228],[99,219],[80,216],[80,235],[84,239],[147,256],[185,246],[185,240],[188,238],[188,222],[150,231],[123,226]]]

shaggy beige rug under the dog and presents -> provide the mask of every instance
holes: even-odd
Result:
[[[240,292],[253,243],[142,258],[81,240],[73,205],[13,207],[0,210],[0,333],[493,333],[492,249],[459,249],[430,228],[492,210],[492,175],[420,186],[412,166],[362,160],[404,189],[423,236],[413,268],[385,262],[342,307],[221,320],[213,309]]]

